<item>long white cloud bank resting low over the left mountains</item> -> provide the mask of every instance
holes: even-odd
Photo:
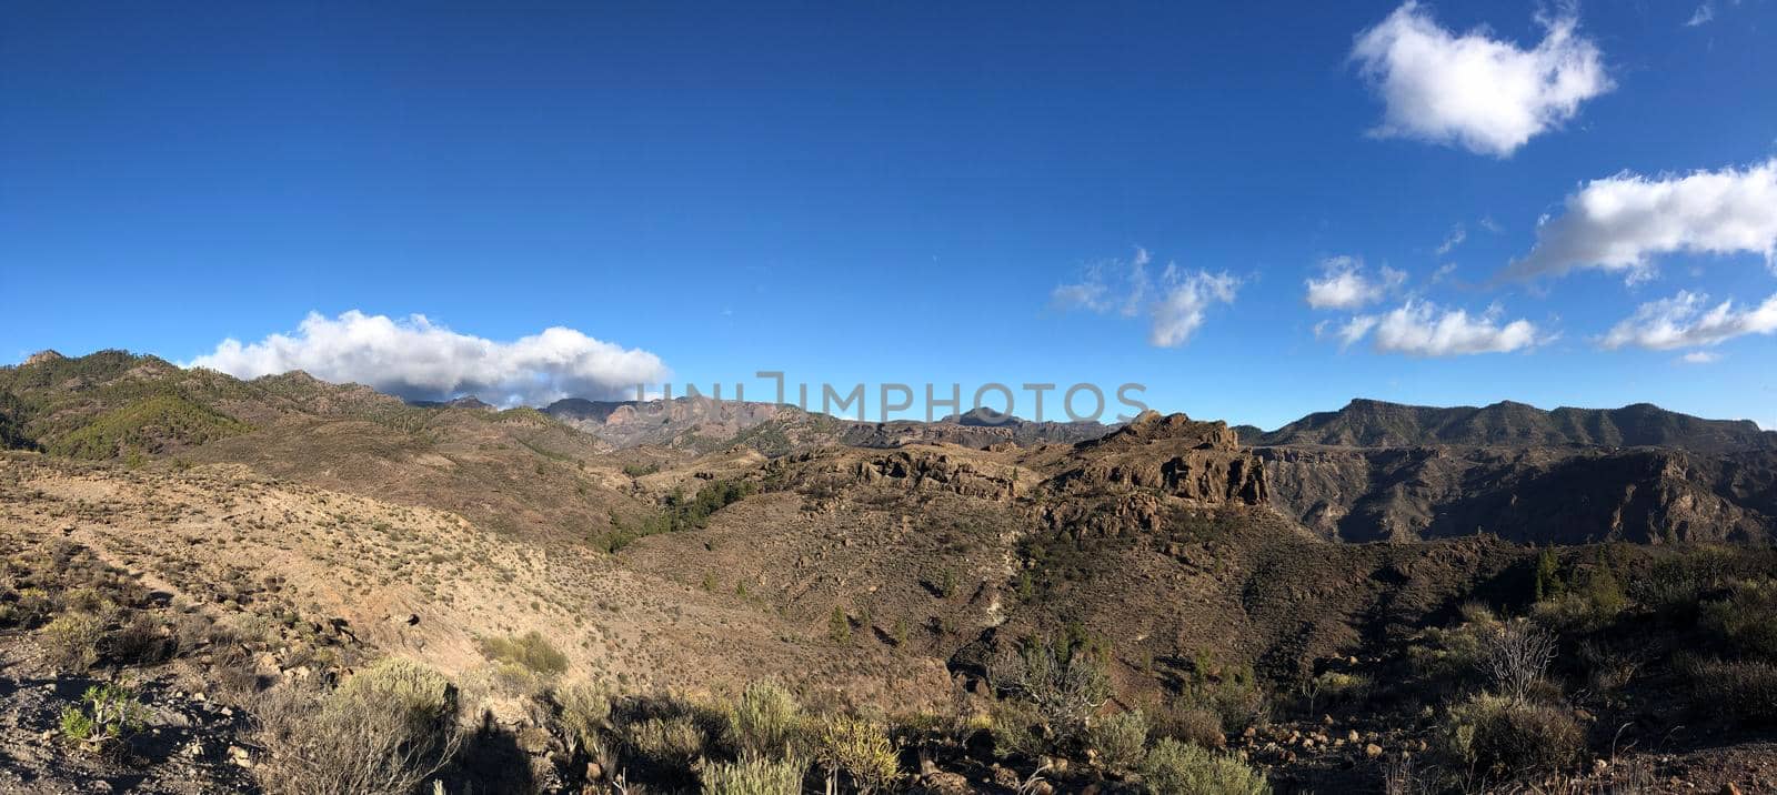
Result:
[[[307,371],[409,399],[478,394],[492,403],[544,405],[560,398],[633,398],[638,383],[666,380],[654,353],[553,327],[512,342],[457,334],[421,314],[396,321],[350,311],[309,312],[293,335],[242,344],[224,339],[192,367],[236,378]]]

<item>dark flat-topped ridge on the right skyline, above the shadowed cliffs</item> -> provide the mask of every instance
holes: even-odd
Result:
[[[1651,403],[1622,408],[1407,406],[1354,399],[1338,412],[1310,413],[1271,433],[1240,428],[1253,445],[1335,447],[1677,447],[1693,453],[1777,449],[1777,433],[1750,421],[1701,419]]]

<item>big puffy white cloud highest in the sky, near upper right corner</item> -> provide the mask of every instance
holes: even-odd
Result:
[[[1574,35],[1571,12],[1539,18],[1532,50],[1487,30],[1454,34],[1409,0],[1358,34],[1351,57],[1383,96],[1379,137],[1461,146],[1505,158],[1558,128],[1580,103],[1612,89],[1590,39]]]

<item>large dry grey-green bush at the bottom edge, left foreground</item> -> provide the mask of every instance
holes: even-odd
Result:
[[[256,768],[272,795],[407,795],[455,754],[457,690],[409,660],[382,660],[318,694],[277,689],[259,699]]]

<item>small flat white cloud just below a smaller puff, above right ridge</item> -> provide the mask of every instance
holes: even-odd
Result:
[[[1443,309],[1422,300],[1407,300],[1398,309],[1381,316],[1358,316],[1340,328],[1343,344],[1363,339],[1375,330],[1377,353],[1406,353],[1409,357],[1461,357],[1470,353],[1507,353],[1534,348],[1542,339],[1537,327],[1526,319],[1500,323],[1500,307],[1484,314],[1462,309]]]

